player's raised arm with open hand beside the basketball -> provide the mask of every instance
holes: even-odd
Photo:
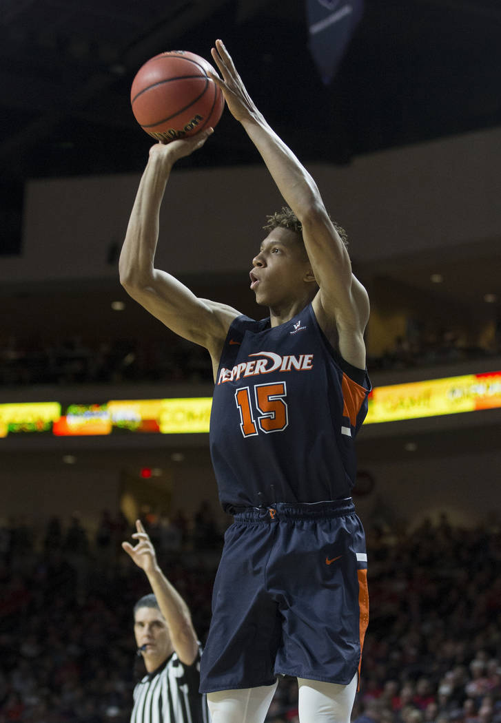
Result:
[[[256,145],[282,197],[303,227],[306,251],[319,284],[319,294],[313,302],[316,316],[329,338],[339,338],[346,361],[363,367],[363,330],[369,318],[369,299],[352,273],[345,244],[329,218],[319,189],[256,108],[221,40],[216,40],[212,57],[222,74],[222,79],[214,80],[221,87],[228,108]],[[348,335],[348,343],[343,343]]]

